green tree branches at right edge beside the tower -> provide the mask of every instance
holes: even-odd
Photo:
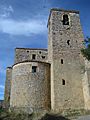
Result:
[[[90,38],[86,38],[84,41],[86,48],[81,49],[83,56],[90,61]]]

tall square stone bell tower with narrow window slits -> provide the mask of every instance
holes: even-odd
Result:
[[[51,63],[51,108],[83,109],[83,33],[79,12],[51,9],[48,20],[48,58]]]

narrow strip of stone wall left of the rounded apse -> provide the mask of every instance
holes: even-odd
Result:
[[[10,106],[11,82],[12,82],[12,68],[8,67],[6,70],[6,82],[5,82],[5,92],[4,92],[5,108],[9,108]]]

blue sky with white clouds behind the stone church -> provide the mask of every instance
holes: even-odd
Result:
[[[0,99],[14,49],[47,48],[50,8],[79,10],[84,37],[90,36],[90,0],[0,0]]]

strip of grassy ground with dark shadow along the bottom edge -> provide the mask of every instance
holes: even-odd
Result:
[[[90,120],[90,115],[69,115],[69,117],[63,117],[61,115],[45,114],[41,119],[38,119],[35,114],[14,113],[0,109],[0,120]]]

